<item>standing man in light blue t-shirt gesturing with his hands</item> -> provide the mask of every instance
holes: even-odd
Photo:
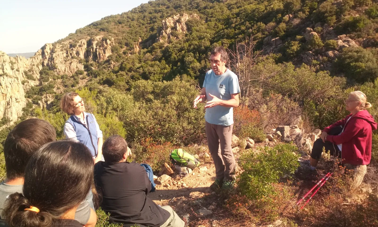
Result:
[[[226,67],[228,53],[224,47],[215,47],[210,54],[211,70],[206,73],[203,89],[194,100],[205,104],[206,137],[215,165],[215,182],[212,190],[232,189],[235,183],[235,158],[231,148],[233,108],[239,106],[239,81]],[[219,146],[220,145],[220,146]]]

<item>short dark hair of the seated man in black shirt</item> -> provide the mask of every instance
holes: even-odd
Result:
[[[112,135],[102,145],[102,155],[108,165],[120,162],[126,152],[127,142],[120,135]]]

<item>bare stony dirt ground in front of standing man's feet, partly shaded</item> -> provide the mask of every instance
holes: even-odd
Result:
[[[238,160],[239,154],[234,153],[234,155]],[[206,227],[254,226],[248,221],[235,219],[223,207],[226,197],[210,190],[209,187],[215,180],[215,167],[212,160],[208,160],[187,176],[170,179],[167,182],[170,184],[169,187],[165,183],[156,185],[156,191],[149,193],[148,196],[158,205],[171,206],[180,217],[189,214],[189,225],[192,227],[197,225]],[[208,213],[211,214],[201,216],[198,210],[202,208],[209,208],[210,212]]]

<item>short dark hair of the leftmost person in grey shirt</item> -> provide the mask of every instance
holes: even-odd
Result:
[[[56,140],[55,128],[45,120],[30,118],[17,124],[4,142],[6,176],[24,177],[30,157],[42,145]]]

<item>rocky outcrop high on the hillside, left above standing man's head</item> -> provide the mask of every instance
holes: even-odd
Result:
[[[192,18],[200,19],[197,14],[188,15],[186,13],[184,13],[183,16],[177,14],[164,19],[161,28],[158,30],[156,42],[166,42],[167,40],[177,39],[177,37],[172,36],[172,28],[180,33],[178,38],[181,39],[187,31],[186,21]]]

